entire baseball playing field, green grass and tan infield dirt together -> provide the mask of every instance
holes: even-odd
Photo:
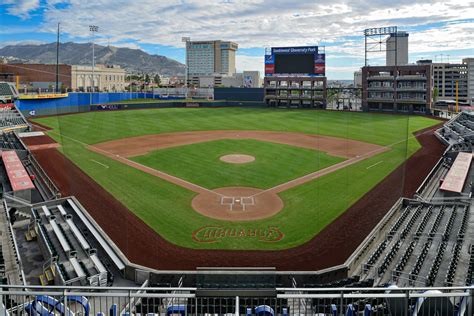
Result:
[[[439,123],[258,108],[104,111],[34,122],[51,128],[67,158],[168,242],[232,250],[305,244],[420,148],[413,133]],[[401,196],[402,183],[393,190]]]

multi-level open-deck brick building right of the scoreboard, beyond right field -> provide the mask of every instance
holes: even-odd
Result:
[[[362,109],[429,113],[432,104],[431,65],[362,68]]]

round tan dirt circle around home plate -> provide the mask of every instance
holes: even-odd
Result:
[[[219,188],[198,194],[192,207],[204,216],[226,221],[253,221],[278,213],[284,204],[272,192],[246,187]]]

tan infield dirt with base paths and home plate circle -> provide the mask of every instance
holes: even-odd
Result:
[[[348,159],[288,182],[278,184],[267,190],[257,191],[255,191],[256,189],[245,187],[210,190],[128,159],[130,156],[146,154],[153,150],[217,139],[264,140],[319,150],[333,156]],[[277,193],[302,185],[308,181],[312,181],[389,150],[388,147],[343,138],[268,131],[205,131],[145,135],[90,145],[88,148],[99,154],[106,155],[111,159],[198,193],[198,196],[193,199],[191,204],[193,209],[202,215],[226,221],[251,221],[271,217],[278,213],[284,206]],[[250,194],[249,190],[255,192]],[[231,201],[229,202],[229,200]],[[248,203],[244,204],[244,200],[247,200]],[[236,212],[236,209],[241,209],[242,211]]]

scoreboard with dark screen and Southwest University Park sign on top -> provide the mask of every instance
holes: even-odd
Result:
[[[265,50],[265,76],[326,75],[326,55],[318,46],[272,47]]]

